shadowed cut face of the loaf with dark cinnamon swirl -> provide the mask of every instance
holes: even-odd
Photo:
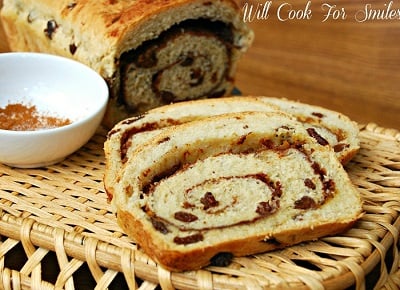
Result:
[[[121,56],[120,99],[133,113],[232,89],[233,32],[223,22],[187,20]],[[138,88],[138,89],[135,89]]]

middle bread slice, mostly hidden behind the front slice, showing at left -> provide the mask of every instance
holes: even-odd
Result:
[[[104,143],[107,160],[104,183],[107,185],[109,199],[112,199],[114,184],[121,167],[128,162],[130,152],[154,138],[166,127],[225,113],[278,110],[275,105],[248,97],[212,98],[161,106],[119,122],[109,131]]]

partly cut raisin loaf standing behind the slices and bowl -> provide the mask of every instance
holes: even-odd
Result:
[[[108,126],[230,94],[253,39],[234,0],[4,0],[1,17],[11,50],[70,57],[105,78]]]

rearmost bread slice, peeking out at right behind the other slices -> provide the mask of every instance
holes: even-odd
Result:
[[[256,99],[275,105],[295,116],[307,128],[314,128],[321,137],[320,142],[330,144],[342,164],[348,163],[360,149],[358,125],[342,113],[284,98],[256,97]]]

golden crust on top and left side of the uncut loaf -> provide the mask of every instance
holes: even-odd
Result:
[[[5,0],[2,22],[11,49],[48,51],[72,57],[97,69],[105,77],[112,77],[115,67],[106,66],[115,64],[105,62],[114,62],[124,50],[137,47],[175,23],[190,16],[201,17],[210,5],[220,6],[212,15],[215,19],[220,17],[223,21],[232,21],[235,29],[248,30],[237,14],[238,6],[231,0],[24,0],[21,5]],[[204,11],[199,8],[201,6]],[[217,10],[224,12],[218,15]],[[20,19],[21,15],[23,18]],[[59,32],[45,36],[44,29],[51,20],[62,26],[62,38],[57,39]],[[80,52],[77,47],[76,53],[71,54],[68,46],[74,43],[85,49]]]

